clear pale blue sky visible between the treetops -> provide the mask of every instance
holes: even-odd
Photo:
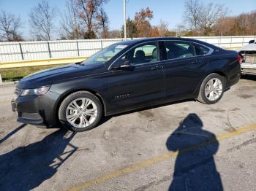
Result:
[[[0,0],[0,9],[12,12],[20,16],[23,21],[22,34],[29,36],[29,12],[41,0]],[[57,7],[59,13],[63,11],[66,0],[45,0],[50,6]],[[135,12],[141,8],[149,7],[154,12],[152,25],[157,25],[160,20],[169,24],[169,28],[176,28],[178,24],[183,23],[185,0],[128,0],[127,16],[133,18]],[[203,2],[215,2],[224,4],[229,9],[229,15],[239,15],[242,12],[251,12],[256,10],[256,0],[204,0]],[[110,28],[120,29],[123,24],[123,0],[109,0],[105,4],[105,10],[110,18]],[[56,19],[56,27],[59,26],[59,18]]]

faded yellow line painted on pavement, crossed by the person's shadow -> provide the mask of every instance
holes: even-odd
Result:
[[[200,147],[206,146],[208,144],[213,144],[215,141],[222,141],[224,139],[229,139],[230,137],[237,136],[237,135],[249,132],[251,130],[256,130],[256,123],[254,123],[252,125],[247,125],[244,128],[238,128],[237,130],[233,130],[230,133],[225,133],[225,134],[222,134],[220,136],[217,136],[217,139],[212,139],[210,141],[202,142],[202,143],[196,144],[196,145],[194,145],[192,147],[188,147],[187,149],[184,149],[181,152],[182,153],[186,153],[186,152],[198,149]],[[114,179],[114,178],[116,178],[118,176],[129,174],[129,173],[132,173],[134,171],[138,171],[138,170],[140,170],[143,167],[154,165],[155,163],[162,162],[163,160],[176,157],[177,155],[178,155],[178,152],[168,152],[165,155],[160,155],[159,157],[154,157],[154,158],[151,158],[149,160],[145,160],[145,161],[143,161],[141,163],[130,165],[127,168],[122,168],[120,170],[113,171],[112,173],[107,174],[105,176],[100,176],[97,179],[92,179],[92,180],[90,180],[88,182],[84,182],[84,183],[79,184],[79,185],[77,185],[75,187],[71,187],[68,190],[69,191],[77,191],[77,190],[83,190],[83,189],[85,189],[87,187],[93,187],[93,186],[96,186],[97,184],[101,184],[101,183],[107,182],[108,180]]]

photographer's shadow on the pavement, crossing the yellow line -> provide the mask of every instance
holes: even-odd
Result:
[[[219,142],[202,128],[197,114],[189,114],[167,139],[167,149],[178,152],[169,190],[223,190],[214,162]]]

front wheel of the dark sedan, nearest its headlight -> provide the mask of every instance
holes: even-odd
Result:
[[[94,94],[87,91],[68,95],[59,107],[59,121],[75,132],[97,127],[101,118],[102,104]]]

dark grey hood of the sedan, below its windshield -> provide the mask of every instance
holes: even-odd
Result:
[[[99,68],[102,68],[102,66],[84,66],[75,63],[66,66],[54,67],[20,79],[19,86],[26,86],[26,88],[30,88],[51,85],[53,82],[68,80],[74,77],[82,77],[88,74],[95,74]]]

